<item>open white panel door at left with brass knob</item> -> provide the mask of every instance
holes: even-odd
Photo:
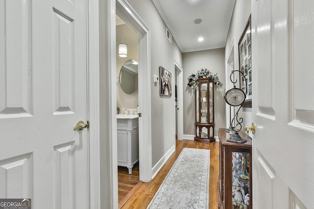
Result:
[[[0,198],[88,208],[85,0],[0,0]]]

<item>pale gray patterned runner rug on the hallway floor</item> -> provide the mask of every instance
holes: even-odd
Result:
[[[209,153],[183,148],[147,209],[208,209]]]

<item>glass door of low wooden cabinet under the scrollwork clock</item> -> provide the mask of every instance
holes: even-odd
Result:
[[[249,209],[250,154],[232,152],[232,209]]]

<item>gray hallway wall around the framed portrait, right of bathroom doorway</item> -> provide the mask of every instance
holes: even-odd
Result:
[[[159,83],[154,83],[154,75],[159,76],[159,66],[162,66],[171,72],[173,85],[174,60],[182,66],[182,52],[174,39],[171,44],[166,38],[166,25],[153,1],[128,0],[128,2],[151,32],[152,166],[155,166],[175,145],[175,95],[172,93],[171,97],[160,96]]]

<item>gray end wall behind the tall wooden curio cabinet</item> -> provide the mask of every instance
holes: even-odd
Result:
[[[214,135],[219,128],[225,128],[225,48],[183,53],[183,134],[195,135],[195,89],[187,86],[187,77],[201,68],[218,73],[221,87],[215,86],[214,91]]]

